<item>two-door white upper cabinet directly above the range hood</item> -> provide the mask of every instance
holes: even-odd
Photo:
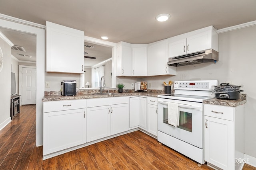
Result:
[[[168,57],[195,53],[206,49],[218,51],[218,33],[213,27],[205,27],[168,39]]]

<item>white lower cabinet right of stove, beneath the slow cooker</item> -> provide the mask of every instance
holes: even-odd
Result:
[[[244,106],[204,104],[204,160],[223,170],[242,169]]]

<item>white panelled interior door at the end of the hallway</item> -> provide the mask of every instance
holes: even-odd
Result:
[[[22,68],[22,105],[36,104],[36,68]]]

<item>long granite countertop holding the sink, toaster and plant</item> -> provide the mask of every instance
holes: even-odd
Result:
[[[164,93],[148,93],[148,92],[124,92],[115,93],[112,95],[94,95],[94,94],[76,94],[76,96],[62,96],[58,95],[45,95],[42,98],[42,102],[58,101],[58,100],[76,100],[76,99],[92,99],[92,98],[110,98],[110,97],[121,97],[121,96],[150,96],[156,97]]]

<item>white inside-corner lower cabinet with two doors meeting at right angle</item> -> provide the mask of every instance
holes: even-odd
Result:
[[[147,98],[130,97],[130,128],[147,130]]]

